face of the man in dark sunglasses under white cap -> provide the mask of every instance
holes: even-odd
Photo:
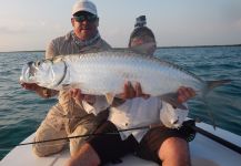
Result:
[[[73,31],[80,40],[89,40],[97,34],[99,18],[89,12],[81,11],[71,19]]]

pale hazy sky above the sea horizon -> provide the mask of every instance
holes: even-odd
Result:
[[[159,46],[241,44],[241,0],[92,0],[101,37],[128,45],[145,14]],[[44,50],[71,27],[76,0],[0,0],[0,52]]]

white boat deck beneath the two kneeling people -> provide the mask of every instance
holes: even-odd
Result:
[[[198,123],[197,126],[201,131],[197,132],[195,138],[190,143],[192,166],[241,165],[241,136],[221,128],[214,131],[204,123]],[[207,132],[217,141],[203,135]],[[33,137],[34,134],[22,143],[30,143]],[[31,145],[17,146],[0,162],[0,166],[62,166],[69,157],[68,149],[49,157],[37,157],[31,151]],[[108,166],[158,166],[133,155],[128,155],[121,160],[120,164],[108,164]]]

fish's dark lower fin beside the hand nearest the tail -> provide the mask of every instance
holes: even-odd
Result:
[[[187,106],[184,106],[183,104],[178,102],[178,93],[177,92],[163,94],[163,95],[159,96],[159,98],[171,104],[173,107],[178,107],[181,110],[188,110]]]

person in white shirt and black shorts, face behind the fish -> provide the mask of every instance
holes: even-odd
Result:
[[[144,27],[145,23],[139,21],[131,33],[129,46],[139,53],[149,52],[149,55],[152,55],[157,48],[154,35],[150,29]],[[145,52],[140,50],[141,45],[144,45]],[[178,102],[184,103],[194,95],[192,89],[180,87]],[[175,108],[158,97],[148,97],[142,93],[139,83],[134,87],[127,83],[122,97],[124,102],[111,107],[108,121],[94,132],[97,134],[117,134],[90,137],[67,165],[94,166],[106,164],[128,153],[135,153],[141,158],[163,166],[190,165],[187,139],[192,131],[189,132],[185,126],[182,126],[188,111]],[[119,129],[150,124],[162,124],[163,126],[149,131],[128,131],[118,134]]]

